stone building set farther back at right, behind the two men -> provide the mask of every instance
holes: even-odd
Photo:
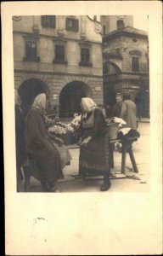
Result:
[[[139,116],[149,116],[148,33],[133,27],[133,16],[101,16],[103,26],[104,104],[130,91]]]

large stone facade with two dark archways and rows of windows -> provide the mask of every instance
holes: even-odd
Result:
[[[71,117],[82,96],[103,105],[102,34],[88,16],[13,17],[14,87],[25,111],[40,92],[48,113]]]

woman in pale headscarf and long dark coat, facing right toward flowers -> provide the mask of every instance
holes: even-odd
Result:
[[[27,152],[37,163],[37,178],[45,192],[57,192],[55,183],[63,178],[59,153],[48,137],[45,124],[46,95],[36,96],[25,119],[25,138]],[[35,175],[34,175],[35,177]]]

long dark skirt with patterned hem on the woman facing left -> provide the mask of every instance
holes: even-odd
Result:
[[[79,174],[104,175],[110,171],[109,139],[98,137],[80,148]]]

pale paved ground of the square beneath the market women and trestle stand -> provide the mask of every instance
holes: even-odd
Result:
[[[132,164],[129,156],[126,156],[126,177],[111,177],[111,188],[107,192],[146,192],[149,190],[149,123],[138,123],[138,131],[141,137],[133,143],[133,152],[138,165],[138,173],[132,172]],[[73,175],[78,172],[79,148],[71,148],[72,160],[70,166],[65,166],[65,179],[58,182],[61,192],[98,192],[103,182],[102,177],[88,178],[87,180],[75,180]],[[121,170],[121,154],[115,151],[115,168],[111,169],[114,176]],[[31,192],[42,192],[40,183],[31,177]]]

